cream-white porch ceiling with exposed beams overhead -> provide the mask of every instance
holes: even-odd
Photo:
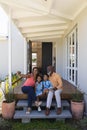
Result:
[[[0,0],[27,40],[63,37],[70,22],[87,6],[87,0]]]

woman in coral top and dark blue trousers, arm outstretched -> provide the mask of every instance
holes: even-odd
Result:
[[[31,74],[19,74],[22,78],[26,78],[25,83],[22,87],[22,92],[28,95],[28,109],[26,114],[31,112],[32,102],[35,101],[36,106],[38,106],[35,96],[35,82],[38,75],[38,68],[34,67]]]

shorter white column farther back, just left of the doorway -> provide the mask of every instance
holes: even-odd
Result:
[[[27,73],[27,42],[24,38],[24,74]]]

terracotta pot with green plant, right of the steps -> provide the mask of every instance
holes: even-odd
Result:
[[[82,119],[84,113],[84,97],[83,93],[77,87],[71,98],[71,112],[74,119]]]

